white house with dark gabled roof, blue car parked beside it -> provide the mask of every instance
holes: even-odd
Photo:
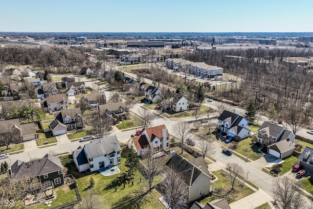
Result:
[[[250,136],[251,131],[248,129],[248,121],[245,117],[239,116],[236,113],[224,110],[219,116],[217,123],[217,129],[227,136],[238,136],[241,139],[245,139]]]

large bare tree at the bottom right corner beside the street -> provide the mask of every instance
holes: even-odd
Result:
[[[303,196],[299,193],[300,186],[287,176],[273,179],[271,192],[274,200],[282,209],[300,209],[303,207]]]

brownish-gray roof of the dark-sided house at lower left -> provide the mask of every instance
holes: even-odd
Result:
[[[63,170],[63,165],[58,157],[46,154],[44,158],[30,162],[16,161],[11,165],[13,181],[29,177],[41,176],[58,170]]]

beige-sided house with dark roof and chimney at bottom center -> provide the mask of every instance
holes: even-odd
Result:
[[[208,171],[204,158],[187,160],[172,151],[170,160],[166,163],[167,167],[179,174],[181,181],[188,190],[188,202],[195,201],[212,190],[211,175]],[[201,165],[201,167],[199,166]]]

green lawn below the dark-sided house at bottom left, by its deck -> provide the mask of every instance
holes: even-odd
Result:
[[[69,190],[68,186],[62,186],[56,190],[57,199],[53,199],[51,203],[51,208],[61,206],[66,203],[73,202],[77,200],[75,189]],[[44,203],[39,203],[34,206],[29,207],[28,209],[45,209],[48,208]]]

